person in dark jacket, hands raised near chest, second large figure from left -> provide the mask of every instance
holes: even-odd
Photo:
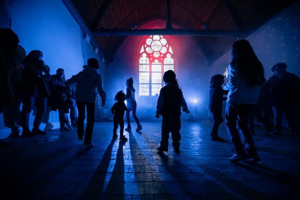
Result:
[[[25,64],[22,69],[21,80],[18,85],[18,92],[22,98],[21,126],[23,137],[32,137],[35,134],[46,134],[40,130],[47,106],[47,98],[50,96],[48,81],[51,75],[45,68],[42,60],[43,53],[38,50],[31,51],[22,61]],[[37,113],[33,122],[32,131],[29,130],[29,115],[32,105],[35,103]]]

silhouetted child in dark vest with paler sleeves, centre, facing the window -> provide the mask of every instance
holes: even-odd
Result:
[[[181,88],[179,88],[176,80],[176,74],[172,70],[168,70],[163,76],[165,86],[161,88],[157,101],[156,118],[163,116],[161,126],[161,146],[158,151],[168,151],[169,133],[172,134],[174,151],[179,154],[179,146],[181,135],[179,133],[181,127],[180,115],[182,111],[190,113],[187,109],[187,103],[184,100]]]

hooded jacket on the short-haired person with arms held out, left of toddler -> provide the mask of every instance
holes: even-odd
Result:
[[[84,65],[81,72],[72,76],[65,82],[67,90],[70,86],[77,83],[75,100],[79,102],[96,103],[97,91],[102,98],[102,102],[106,102],[106,94],[102,88],[102,77],[93,67]]]

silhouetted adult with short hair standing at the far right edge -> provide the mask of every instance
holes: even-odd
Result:
[[[299,135],[297,106],[300,103],[300,79],[286,71],[285,63],[275,64],[271,70],[274,75],[266,83],[266,90],[271,96],[274,114],[275,133],[282,130],[281,118],[284,112],[293,135]]]

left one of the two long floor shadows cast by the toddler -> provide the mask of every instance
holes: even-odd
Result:
[[[107,146],[101,162],[99,163],[97,169],[95,170],[95,173],[90,179],[88,185],[85,187],[84,191],[82,192],[80,199],[86,199],[87,196],[100,197],[102,195],[105,179],[107,175],[107,170],[111,161],[112,149],[115,141],[116,140],[112,140],[110,144]],[[97,173],[97,172],[101,172],[101,173]]]

